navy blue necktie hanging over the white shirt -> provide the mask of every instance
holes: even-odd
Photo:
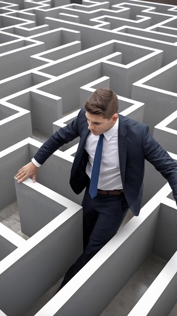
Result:
[[[101,165],[101,155],[102,155],[102,148],[103,148],[103,137],[104,137],[103,134],[99,135],[98,143],[95,150],[95,156],[94,156],[92,174],[91,174],[90,186],[89,186],[89,194],[91,198],[94,198],[97,195],[97,185],[98,185],[99,171],[100,171],[100,165]]]

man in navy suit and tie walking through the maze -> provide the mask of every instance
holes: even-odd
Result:
[[[139,215],[148,160],[165,177],[177,201],[177,164],[154,140],[147,125],[118,115],[118,99],[109,88],[95,90],[85,109],[68,126],[55,132],[19,170],[24,181],[60,146],[80,136],[70,185],[76,194],[84,188],[84,252],[68,270],[60,289],[116,234],[129,207]]]

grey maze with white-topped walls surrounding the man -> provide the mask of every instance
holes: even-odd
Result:
[[[69,186],[79,140],[55,151],[36,183],[14,179],[105,86],[119,97],[119,113],[148,124],[177,161],[177,3],[78,2],[0,2],[0,315],[175,316],[177,207],[154,167],[146,163],[139,217],[129,210],[117,234],[56,295],[83,247],[83,193]],[[12,208],[20,233],[3,222]],[[160,270],[148,286],[137,278],[135,299],[124,296],[152,256]]]

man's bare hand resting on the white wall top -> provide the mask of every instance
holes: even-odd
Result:
[[[32,176],[33,182],[36,182],[38,169],[38,167],[36,167],[32,162],[30,162],[18,171],[15,178],[18,180],[18,183],[20,183],[29,178],[30,176]]]

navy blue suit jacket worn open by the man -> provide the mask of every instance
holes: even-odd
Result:
[[[39,164],[63,144],[80,136],[79,146],[71,170],[70,185],[77,194],[88,183],[85,167],[88,154],[84,149],[89,134],[88,123],[82,109],[69,125],[55,132],[39,148],[34,158]],[[119,161],[124,194],[134,215],[138,216],[143,194],[144,162],[149,161],[167,179],[177,201],[177,164],[149,133],[149,127],[119,115]]]

